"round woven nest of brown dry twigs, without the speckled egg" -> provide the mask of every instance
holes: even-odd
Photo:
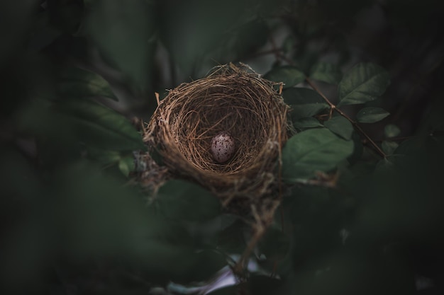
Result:
[[[248,205],[277,187],[278,156],[289,136],[279,86],[244,64],[218,66],[159,102],[144,129],[145,143],[157,149],[172,175],[203,185],[226,206]],[[235,143],[226,163],[211,153],[221,132]]]

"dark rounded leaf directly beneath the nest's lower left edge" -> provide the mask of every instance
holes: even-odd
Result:
[[[184,221],[204,221],[221,213],[216,196],[184,180],[170,180],[162,185],[155,206],[167,218]]]

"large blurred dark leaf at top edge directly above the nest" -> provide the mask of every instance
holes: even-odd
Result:
[[[267,36],[259,31],[265,23],[252,21],[252,13],[247,11],[244,1],[196,0],[193,5],[186,1],[160,1],[156,6],[159,37],[184,73],[184,78],[196,75],[201,64],[209,59],[218,62],[221,59],[226,62],[237,59],[235,55],[246,53],[242,45],[252,49]],[[257,16],[255,19],[258,19]],[[240,40],[243,36],[248,40]],[[257,39],[254,40],[254,37]],[[216,54],[221,54],[221,58],[214,55],[214,51],[218,50],[221,52]]]

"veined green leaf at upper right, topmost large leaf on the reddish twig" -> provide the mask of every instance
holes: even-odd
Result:
[[[389,73],[381,66],[357,64],[344,75],[338,85],[338,105],[357,105],[375,100],[384,93],[389,83]]]

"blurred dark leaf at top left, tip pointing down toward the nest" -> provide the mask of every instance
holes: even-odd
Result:
[[[155,18],[150,1],[88,1],[87,12],[85,34],[133,86],[147,87],[154,48],[150,38]]]

